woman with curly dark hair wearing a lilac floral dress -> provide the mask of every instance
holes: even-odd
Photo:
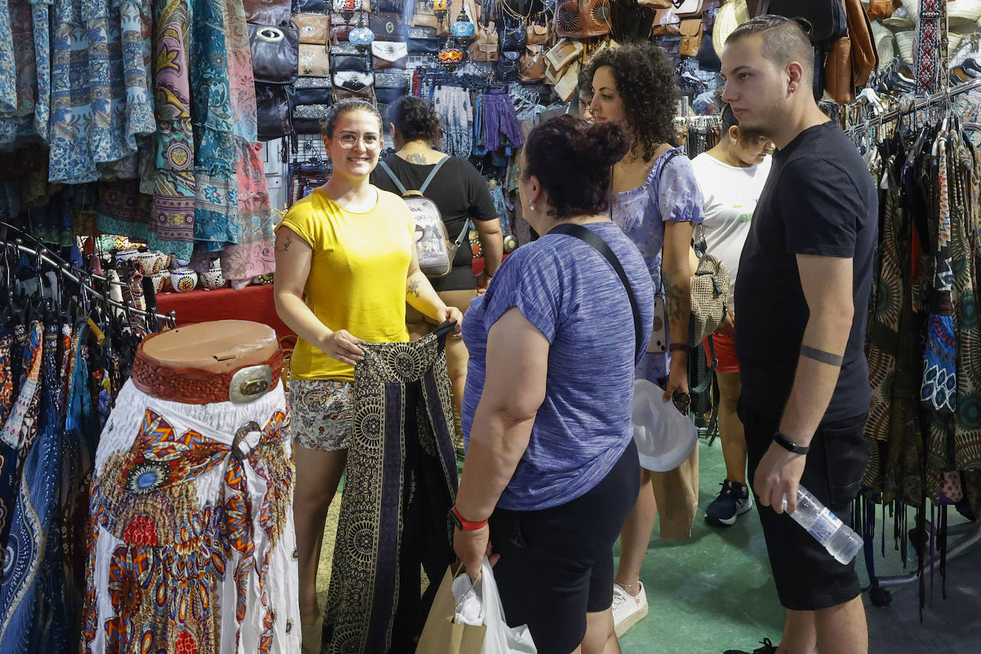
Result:
[[[701,223],[703,214],[692,162],[671,144],[677,97],[674,67],[656,45],[632,43],[596,55],[590,72],[595,122],[623,126],[632,139],[630,151],[613,167],[613,221],[637,244],[655,291],[666,299],[664,342],[670,345],[663,351],[651,338],[636,377],[659,384],[665,400],[681,404],[689,390],[689,253],[694,225]],[[658,505],[661,537],[685,538],[691,535],[697,500],[697,449],[668,473],[641,469],[637,504],[620,533],[620,566],[613,589],[617,635],[647,614],[641,565]]]

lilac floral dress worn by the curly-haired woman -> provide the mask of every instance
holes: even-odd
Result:
[[[668,154],[674,150],[681,154],[671,158],[665,165]],[[663,295],[661,287],[661,255],[664,247],[664,222],[688,221],[701,223],[704,213],[701,208],[701,191],[692,161],[685,156],[683,148],[668,150],[654,162],[643,186],[617,193],[613,199],[613,222],[620,226],[641,250],[650,278],[654,282],[654,292]],[[662,172],[663,169],[663,172]],[[665,327],[667,331],[667,327]],[[671,335],[667,334],[668,342]],[[636,377],[657,383],[668,374],[670,357],[667,352],[647,353],[637,366]]]

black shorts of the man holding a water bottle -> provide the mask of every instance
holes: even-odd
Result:
[[[752,411],[743,402],[739,405],[739,417],[746,428],[751,486],[780,421]],[[865,417],[862,414],[818,428],[810,441],[800,478],[800,484],[846,525],[852,524],[852,500],[858,494],[868,461],[868,441],[863,433]],[[848,565],[839,563],[788,514],[778,515],[771,507],[759,505],[759,497],[756,502],[773,580],[785,608],[818,611],[858,596],[860,586],[854,560]]]

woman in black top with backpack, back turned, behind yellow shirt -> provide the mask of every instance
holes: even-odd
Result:
[[[388,107],[387,119],[396,150],[379,163],[371,182],[403,196],[419,191],[436,204],[446,235],[458,248],[452,269],[443,277],[430,277],[430,281],[447,306],[466,312],[471,300],[487,287],[504,256],[504,240],[487,180],[466,159],[449,157],[434,149],[442,141],[445,127],[428,100],[403,96]],[[477,227],[484,255],[484,272],[477,277],[471,270],[473,252],[467,238],[471,220]],[[432,319],[411,307],[406,310],[406,322],[412,340],[425,336],[437,326]],[[468,360],[463,339],[448,337],[446,369],[453,384],[453,405],[457,414],[463,402]]]

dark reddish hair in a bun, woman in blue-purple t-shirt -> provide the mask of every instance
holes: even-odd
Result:
[[[621,126],[559,116],[528,135],[521,175],[539,178],[555,218],[602,214],[610,205],[613,165],[628,150]]]

